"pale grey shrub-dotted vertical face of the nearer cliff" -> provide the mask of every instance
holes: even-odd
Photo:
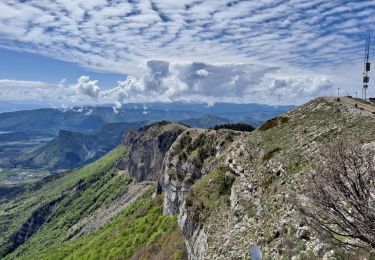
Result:
[[[186,237],[189,258],[202,259],[208,250],[208,235],[205,231],[204,205],[193,186],[220,165],[228,152],[233,138],[246,135],[230,130],[189,129],[172,145],[166,154],[160,186],[165,191],[164,213],[178,215],[178,224]],[[234,178],[229,168],[224,174]],[[209,179],[209,185],[215,190],[217,183]],[[230,187],[228,187],[230,188]],[[208,189],[209,191],[209,189]],[[214,191],[215,193],[215,191]],[[187,198],[188,197],[188,198]],[[198,207],[196,207],[198,206]],[[203,208],[202,208],[203,206]],[[201,208],[199,208],[201,207]]]

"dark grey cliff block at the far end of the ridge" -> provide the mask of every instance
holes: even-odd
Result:
[[[130,152],[122,167],[138,182],[157,180],[166,152],[186,129],[186,126],[163,121],[143,127],[138,132],[128,132],[124,142],[130,147]]]

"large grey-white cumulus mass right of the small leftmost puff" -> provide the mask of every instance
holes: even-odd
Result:
[[[117,111],[124,102],[199,101],[213,104],[261,102],[302,103],[333,93],[325,76],[280,78],[282,69],[252,64],[208,65],[205,63],[148,62],[143,78],[128,76],[113,88],[100,91],[99,99],[112,101]],[[204,71],[204,76],[197,71]]]

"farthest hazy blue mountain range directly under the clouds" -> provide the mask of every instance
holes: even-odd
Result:
[[[216,103],[214,106],[194,103],[125,104],[117,113],[112,107],[41,108],[0,114],[0,131],[25,129],[54,131],[60,129],[87,132],[105,123],[132,121],[180,121],[203,115],[215,115],[236,122],[259,125],[293,106]]]

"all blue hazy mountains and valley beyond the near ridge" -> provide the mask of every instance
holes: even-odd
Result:
[[[0,169],[59,171],[82,166],[118,145],[127,129],[151,122],[168,120],[197,128],[236,122],[258,126],[291,108],[172,102],[125,104],[119,111],[87,106],[0,113]]]

